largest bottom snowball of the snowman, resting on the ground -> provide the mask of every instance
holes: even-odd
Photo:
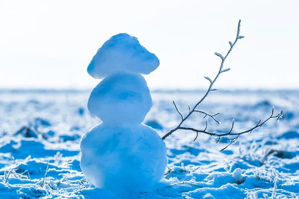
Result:
[[[114,193],[142,193],[164,175],[165,143],[151,127],[107,126],[88,130],[80,142],[80,166],[90,183]]]

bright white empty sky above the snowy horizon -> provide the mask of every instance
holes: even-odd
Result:
[[[299,89],[298,0],[0,0],[0,88],[93,88],[87,66],[127,32],[160,60],[150,89]]]

